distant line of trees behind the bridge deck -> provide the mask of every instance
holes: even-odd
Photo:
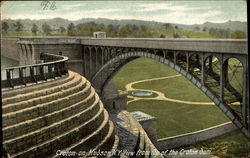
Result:
[[[87,22],[75,25],[70,23],[67,28],[60,26],[57,29],[52,29],[52,27],[48,23],[43,23],[41,30],[39,30],[36,24],[32,25],[30,30],[25,30],[24,25],[17,21],[14,24],[14,32],[17,35],[21,34],[22,32],[30,32],[33,36],[38,34],[42,35],[68,35],[68,36],[92,36],[93,32],[101,31],[106,32],[108,37],[144,37],[144,38],[165,38],[169,37],[169,34],[173,38],[181,38],[182,37],[182,28],[179,28],[177,25],[172,25],[169,23],[163,24],[160,34],[152,33],[152,30],[148,29],[145,25],[135,25],[135,24],[127,24],[124,26],[120,25],[104,25],[104,24],[96,24],[95,22]],[[3,33],[8,34],[9,24],[7,22],[2,23],[1,27]],[[165,32],[164,32],[165,31]],[[190,32],[190,31],[189,31]],[[218,28],[207,28],[207,27],[195,27],[193,32],[200,32],[205,33],[214,38],[232,38],[232,39],[244,39],[246,38],[246,33],[243,31],[232,31],[230,29],[218,29]],[[168,36],[167,36],[168,34]],[[186,38],[189,37],[188,34],[185,35]]]

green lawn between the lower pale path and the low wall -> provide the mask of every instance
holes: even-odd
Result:
[[[139,110],[156,117],[158,138],[194,132],[228,121],[215,105],[141,100],[128,104],[127,109],[130,112]]]

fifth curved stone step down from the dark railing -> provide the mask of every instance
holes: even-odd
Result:
[[[63,118],[70,117],[79,111],[85,110],[87,106],[93,104],[94,101],[95,91],[92,88],[90,95],[78,103],[54,111],[53,113],[49,113],[47,115],[43,115],[32,120],[27,120],[19,124],[3,128],[3,139],[12,139],[14,137],[18,137],[20,135],[40,129],[44,126],[49,126],[57,121],[62,120]]]

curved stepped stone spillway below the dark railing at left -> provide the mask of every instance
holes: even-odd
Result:
[[[119,138],[89,81],[77,73],[2,90],[3,144],[11,157],[116,148]]]

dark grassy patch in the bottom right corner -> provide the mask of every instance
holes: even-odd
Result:
[[[198,143],[195,147],[211,150],[221,158],[250,157],[250,142],[239,130]]]

